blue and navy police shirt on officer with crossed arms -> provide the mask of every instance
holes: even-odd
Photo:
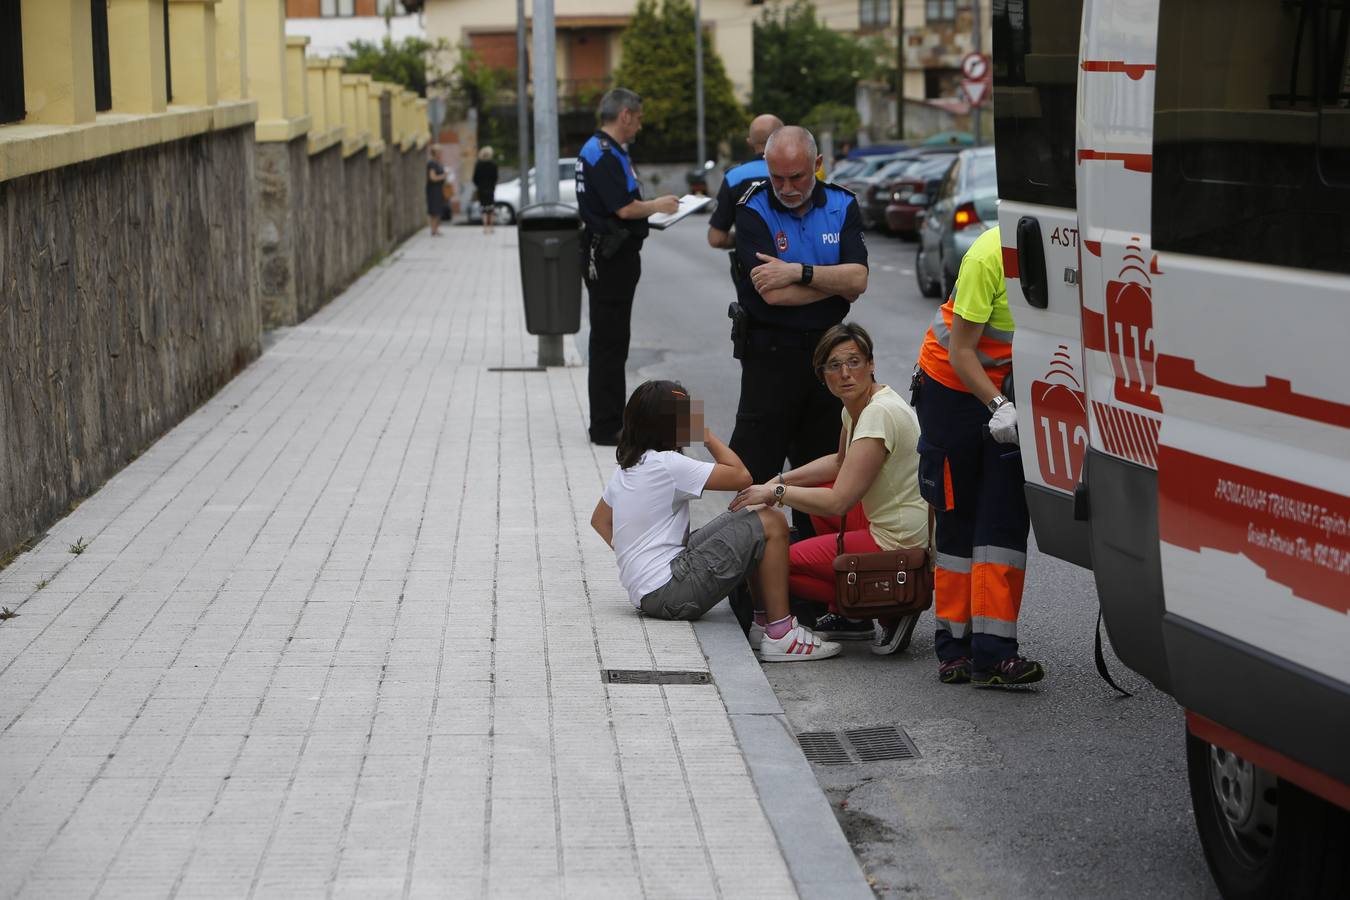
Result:
[[[822,181],[796,216],[778,201],[768,181],[755,182],[736,205],[736,254],[747,273],[737,287],[741,306],[757,325],[787,331],[821,331],[848,316],[844,297],[825,297],[805,306],[771,306],[755,290],[748,274],[763,264],[755,254],[807,266],[867,264],[863,217],[853,193]]]

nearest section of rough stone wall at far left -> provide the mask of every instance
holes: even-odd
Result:
[[[0,551],[259,352],[252,124],[0,182]]]

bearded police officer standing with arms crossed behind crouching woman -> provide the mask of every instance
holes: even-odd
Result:
[[[821,158],[805,128],[772,134],[768,178],[736,206],[741,398],[732,449],[756,484],[838,448],[840,401],[811,368],[811,351],[867,290],[867,246],[853,194],[817,181]],[[810,522],[794,518],[810,534]]]

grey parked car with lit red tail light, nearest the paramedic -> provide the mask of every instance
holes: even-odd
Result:
[[[919,216],[919,247],[914,277],[925,297],[950,297],[961,258],[975,239],[999,221],[999,185],[994,147],[963,150],[942,184],[927,197],[910,197],[927,206]]]

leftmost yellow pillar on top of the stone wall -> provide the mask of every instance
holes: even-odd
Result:
[[[20,0],[26,123],[93,121],[93,28],[85,0]]]

